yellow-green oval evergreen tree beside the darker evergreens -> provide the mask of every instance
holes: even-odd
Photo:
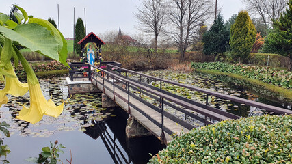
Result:
[[[252,24],[248,12],[241,11],[230,29],[229,43],[233,58],[239,59],[240,63],[241,59],[248,57],[254,42],[256,42],[256,28]]]

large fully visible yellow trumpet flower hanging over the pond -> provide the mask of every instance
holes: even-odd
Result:
[[[50,99],[47,101],[44,98],[39,83],[32,84],[28,81],[28,85],[30,107],[28,108],[23,105],[23,109],[19,111],[19,115],[16,118],[35,124],[42,120],[44,114],[57,117],[62,113],[65,102],[56,106],[53,100]]]

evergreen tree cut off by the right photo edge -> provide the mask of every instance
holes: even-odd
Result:
[[[267,36],[263,49],[289,57],[288,70],[292,70],[292,0],[289,0],[288,5],[289,8],[281,14],[279,20],[274,20],[274,30]]]

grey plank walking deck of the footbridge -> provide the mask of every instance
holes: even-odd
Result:
[[[101,78],[97,78],[97,81],[99,81],[100,83],[103,83],[103,79],[101,79]],[[92,80],[92,83],[94,85],[96,85],[94,80]],[[105,81],[105,86],[107,86],[109,88],[113,87],[113,85],[111,83],[108,83],[107,81]],[[99,90],[103,91],[103,85],[100,85],[97,83],[97,87]],[[123,92],[122,90],[118,89],[118,87],[115,87],[115,92],[116,92],[116,94],[119,94],[123,98],[127,99],[127,97],[128,97],[128,94]],[[105,87],[105,94],[109,98],[111,98],[111,100],[114,100],[114,94],[111,91],[107,90],[106,87]],[[124,102],[124,100],[122,100],[118,96],[115,96],[114,101],[120,107],[122,107],[122,109],[124,109],[125,111],[128,111],[127,102]],[[130,102],[133,105],[135,105],[136,107],[139,107],[142,111],[144,111],[151,118],[154,118],[155,120],[157,120],[157,122],[161,122],[161,113],[153,110],[152,108],[148,107],[147,105],[144,105],[142,102],[140,102],[139,100],[136,100],[132,96],[130,96]],[[137,120],[137,122],[139,122],[145,128],[147,128],[148,131],[150,131],[153,135],[155,135],[156,137],[160,137],[161,127],[159,127],[156,124],[154,124],[153,122],[151,122],[148,118],[146,118],[146,116],[142,115],[142,113],[140,113],[140,111],[137,111],[136,109],[131,107],[131,115],[133,118],[135,118],[135,120]],[[185,131],[185,132],[189,131],[187,128],[184,128],[183,126],[177,124],[176,122],[170,120],[169,118],[164,117],[163,122],[164,122],[164,126],[169,128],[170,131],[172,131],[173,133],[179,134],[179,133],[181,133],[181,131]],[[165,133],[166,141],[168,141],[168,142],[172,140],[172,137],[170,135],[171,134]]]

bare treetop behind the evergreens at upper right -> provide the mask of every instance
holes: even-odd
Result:
[[[288,0],[241,0],[247,6],[250,14],[260,16],[265,28],[272,23],[271,20],[278,20],[280,14],[287,7]]]

